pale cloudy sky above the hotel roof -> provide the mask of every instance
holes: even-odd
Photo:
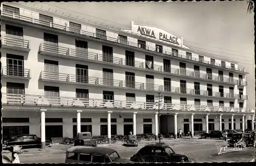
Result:
[[[183,37],[185,45],[237,60],[239,68],[250,72],[246,76],[247,107],[255,107],[254,13],[247,14],[245,1],[30,4],[109,26],[129,28],[134,21],[162,27]]]

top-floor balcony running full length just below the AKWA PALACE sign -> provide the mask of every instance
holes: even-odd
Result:
[[[141,46],[141,44],[138,44],[138,43],[135,43],[135,42],[129,42],[129,41],[128,42],[123,42],[123,41],[119,40],[118,38],[109,37],[106,34],[103,34],[103,35],[99,34],[99,33],[95,34],[95,33],[87,32],[87,31],[83,31],[83,30],[80,30],[78,32],[77,29],[74,32],[73,30],[69,30],[69,29],[72,29],[72,27],[68,27],[67,25],[60,25],[60,24],[56,24],[56,23],[52,23],[52,22],[46,22],[46,21],[44,22],[42,20],[34,19],[34,18],[31,18],[31,17],[20,16],[20,15],[17,16],[17,15],[14,15],[13,13],[3,11],[2,12],[2,19],[9,21],[8,18],[11,19],[11,20],[22,20],[20,22],[22,22],[22,23],[25,23],[25,22],[31,23],[32,26],[36,26],[36,27],[42,27],[42,26],[49,27],[54,31],[57,30],[57,31],[62,31],[62,32],[69,33],[69,34],[75,34],[75,35],[78,34],[80,36],[86,37],[87,39],[88,39],[88,37],[90,37],[91,39],[94,38],[94,39],[104,40],[104,41],[108,41],[108,42],[112,42],[112,43],[118,43],[118,44],[122,44],[122,45],[132,46],[132,47],[152,51],[152,53],[154,53],[154,52],[156,53],[156,47],[150,47],[150,46],[146,46],[146,45]],[[245,69],[234,68],[234,67],[230,67],[230,66],[226,66],[226,65],[223,66],[221,64],[212,63],[212,62],[209,62],[209,61],[204,61],[204,60],[199,60],[199,59],[196,59],[196,58],[191,58],[190,56],[187,56],[186,54],[183,55],[183,54],[173,53],[173,52],[170,52],[169,50],[165,50],[165,49],[162,49],[161,51],[159,51],[157,53],[165,54],[167,56],[173,57],[174,59],[183,59],[183,60],[188,61],[188,62],[189,61],[194,61],[194,62],[201,63],[201,64],[204,64],[204,65],[207,65],[207,66],[212,66],[212,67],[217,67],[217,68],[225,68],[225,69],[228,69],[230,71],[236,71],[236,72],[239,72],[239,73],[247,73],[245,71]]]

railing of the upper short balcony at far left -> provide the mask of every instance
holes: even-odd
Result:
[[[3,45],[29,49],[29,40],[19,39],[11,36],[4,36]]]

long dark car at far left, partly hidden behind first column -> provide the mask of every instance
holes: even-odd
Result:
[[[52,144],[52,139],[46,137],[46,147]],[[23,134],[23,135],[15,135],[11,137],[11,139],[4,142],[3,148],[19,145],[21,147],[24,146],[41,146],[41,138],[37,137],[34,134]]]

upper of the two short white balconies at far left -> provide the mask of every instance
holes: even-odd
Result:
[[[18,51],[30,51],[29,41],[11,36],[3,36],[2,48],[13,49]]]

